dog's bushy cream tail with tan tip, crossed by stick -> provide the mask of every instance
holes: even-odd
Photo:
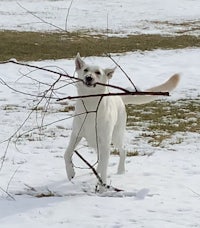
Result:
[[[149,88],[145,90],[145,92],[170,92],[176,88],[180,81],[180,75],[174,74],[171,78],[169,78],[165,83]],[[158,95],[125,95],[121,96],[124,104],[146,104],[151,101],[157,100],[161,98]]]

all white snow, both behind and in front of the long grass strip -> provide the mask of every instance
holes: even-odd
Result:
[[[49,20],[54,19],[59,26],[63,26],[61,22],[64,22],[69,3],[69,1],[20,1],[20,4],[31,11],[43,11],[39,15],[46,15]],[[199,1],[176,0],[164,4],[155,0],[151,1],[151,4],[144,0],[134,1],[135,19],[130,17],[131,12],[133,13],[131,3],[128,0],[124,3],[97,0],[91,3],[86,0],[81,2],[75,0],[70,13],[69,26],[71,29],[83,28],[79,20],[84,18],[84,28],[105,29],[106,21],[99,19],[102,18],[102,14],[107,14],[100,10],[102,4],[106,6],[109,18],[113,19],[110,28],[121,30],[122,25],[126,24],[125,30],[128,33],[131,33],[133,22],[137,22],[139,26],[143,20],[166,20],[167,16],[172,21],[199,20]],[[176,13],[177,7],[180,7],[180,11]],[[21,26],[22,23],[26,23],[25,21],[31,22],[35,19],[25,14],[15,1],[0,1],[0,8],[2,29],[49,29],[47,25],[41,27],[32,23]],[[88,14],[89,10],[91,14]],[[85,15],[90,17],[86,18]],[[138,31],[141,32],[143,29],[140,28]],[[181,83],[171,97],[165,99],[173,101],[199,99],[199,48],[130,52],[113,54],[113,58],[142,89],[159,84],[178,72],[181,74]],[[103,67],[114,65],[106,57],[90,57],[85,61]],[[71,59],[46,60],[29,64],[46,66],[59,72],[62,68],[68,74],[74,74],[74,60]],[[11,63],[0,65],[0,78],[9,86],[33,95],[46,88],[45,84],[39,86],[36,81],[33,82],[23,76],[27,73],[28,76],[44,83],[56,79],[55,75],[42,71],[30,73],[27,67]],[[111,82],[131,87],[119,69],[116,70]],[[3,81],[0,81],[1,142],[8,139],[21,126],[39,102],[39,98],[14,92],[2,83]],[[60,86],[65,83],[66,81],[60,82]],[[59,97],[75,94],[73,85],[57,92]],[[44,105],[45,101],[39,107]],[[127,157],[124,175],[116,175],[118,157],[112,155],[108,182],[124,191],[98,194],[94,191],[95,176],[76,155],[74,155],[76,177],[73,182],[67,181],[63,153],[71,132],[73,112],[60,112],[59,110],[63,110],[64,107],[62,103],[52,100],[47,112],[31,113],[29,120],[20,129],[20,133],[26,132],[26,134],[16,143],[9,144],[6,160],[0,171],[0,224],[3,228],[200,227],[199,133],[176,133],[171,141],[167,141],[162,147],[153,147],[144,138],[139,137],[141,133],[139,130],[127,129],[126,150],[136,150],[140,154],[147,155]],[[61,119],[64,120],[59,121]],[[42,131],[29,132],[34,127],[54,121],[57,122],[44,127]],[[177,138],[181,138],[182,141],[173,143]],[[1,156],[6,151],[7,145],[6,141],[0,144]],[[85,141],[81,142],[78,150],[91,164],[96,162],[96,154],[86,146]],[[52,197],[42,197],[45,195]]]

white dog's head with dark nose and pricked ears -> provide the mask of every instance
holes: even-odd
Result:
[[[107,84],[108,80],[112,77],[115,71],[115,68],[102,69],[98,66],[88,65],[81,59],[79,53],[76,56],[75,65],[78,78],[82,80],[84,86],[87,89],[94,89],[95,87],[98,87],[98,89],[95,88],[98,92],[103,92],[105,90],[105,86],[98,85],[98,83]]]

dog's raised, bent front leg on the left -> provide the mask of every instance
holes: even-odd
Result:
[[[81,140],[81,137],[77,137],[76,134],[72,133],[70,137],[69,145],[67,147],[67,150],[65,151],[64,159],[65,159],[67,177],[69,180],[71,180],[75,176],[75,171],[72,163],[72,155],[76,145],[80,142],[80,140]]]

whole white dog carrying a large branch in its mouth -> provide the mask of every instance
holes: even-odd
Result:
[[[77,83],[78,95],[106,94],[108,87],[98,83],[107,84],[115,69],[101,69],[98,66],[87,65],[77,54],[76,72],[82,81]],[[162,85],[150,88],[148,92],[170,92],[179,82],[179,75],[173,75]],[[68,179],[74,175],[72,155],[81,138],[85,138],[90,147],[95,148],[98,155],[97,172],[106,184],[107,167],[110,155],[110,145],[119,150],[120,160],[118,174],[125,172],[126,152],[123,149],[123,138],[126,127],[125,104],[144,104],[151,102],[159,96],[94,96],[80,98],[76,102],[75,117],[68,148],[65,152],[65,164]]]

